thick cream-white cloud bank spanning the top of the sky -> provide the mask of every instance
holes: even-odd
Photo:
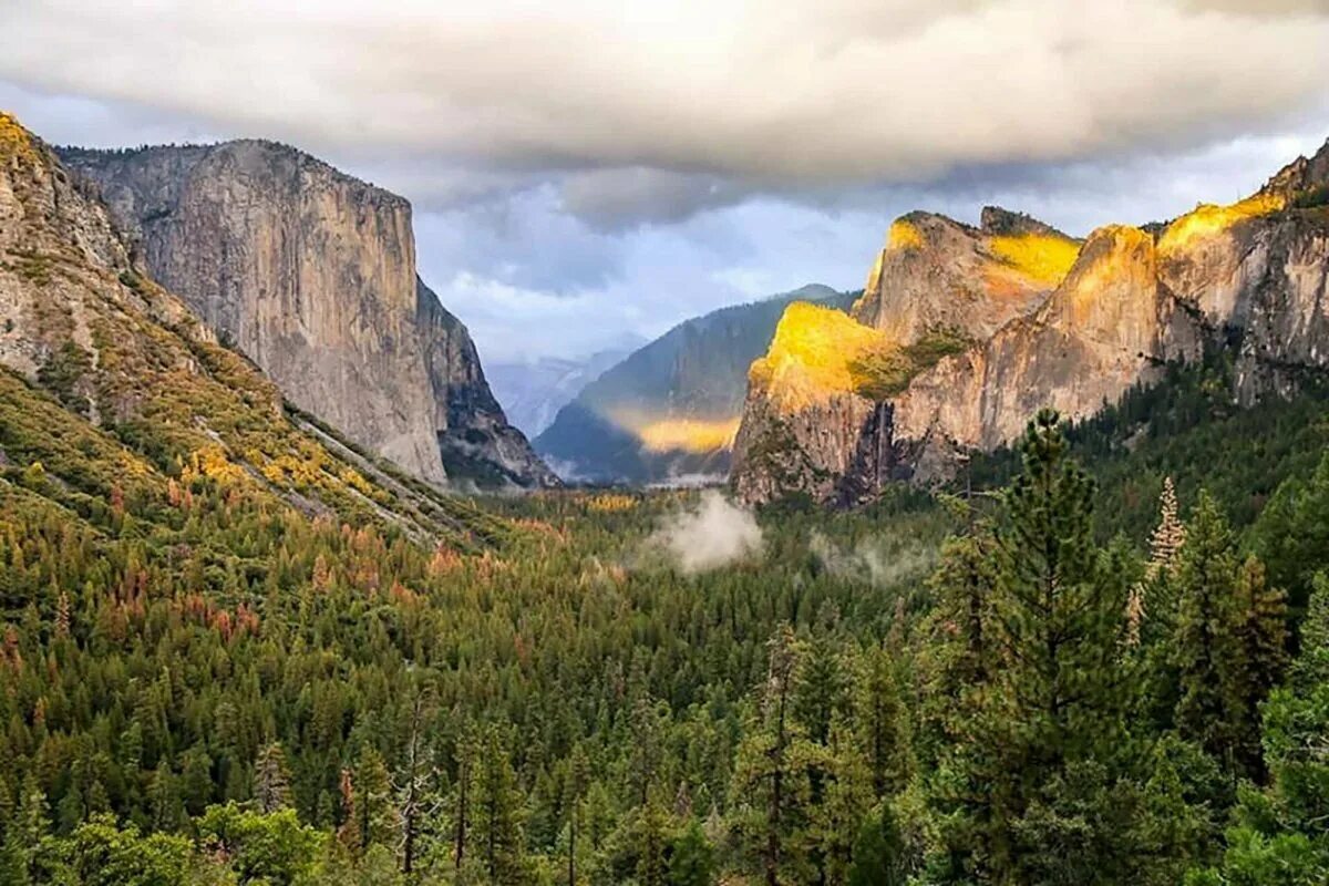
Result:
[[[324,153],[599,173],[566,199],[614,214],[606,186],[686,207],[1196,143],[1322,96],[1325,45],[1305,0],[29,0],[0,76]]]

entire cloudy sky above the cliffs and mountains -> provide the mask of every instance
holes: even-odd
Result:
[[[1083,235],[1329,137],[1329,0],[0,0],[53,143],[263,137],[408,197],[486,361],[863,286],[890,221]]]

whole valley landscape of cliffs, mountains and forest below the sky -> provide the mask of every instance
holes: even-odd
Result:
[[[0,882],[1325,882],[1326,182],[910,213],[528,441],[405,199],[0,116]]]

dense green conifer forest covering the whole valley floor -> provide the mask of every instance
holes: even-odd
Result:
[[[694,491],[429,545],[7,376],[0,882],[1329,882],[1325,397],[1224,372],[703,567]]]

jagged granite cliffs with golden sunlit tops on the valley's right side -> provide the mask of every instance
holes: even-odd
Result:
[[[1329,143],[1232,206],[1070,243],[994,209],[977,230],[896,222],[853,310],[878,332],[877,355],[833,397],[797,408],[787,381],[754,365],[738,494],[855,505],[885,482],[945,480],[958,453],[1011,441],[1039,408],[1088,416],[1205,348],[1231,349],[1244,404],[1329,369]]]

